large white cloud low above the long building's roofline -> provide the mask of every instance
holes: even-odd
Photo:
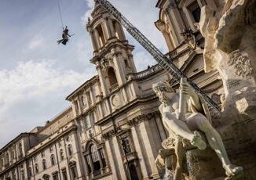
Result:
[[[0,71],[0,145],[13,132],[29,131],[53,117],[69,103],[68,95],[86,74],[54,67],[54,60],[20,62],[13,70]],[[60,105],[61,104],[61,105]]]

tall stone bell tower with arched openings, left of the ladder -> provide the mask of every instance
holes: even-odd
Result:
[[[93,59],[103,95],[124,85],[128,74],[137,72],[133,61],[133,45],[129,45],[121,24],[101,5],[95,4],[92,20],[86,30],[93,44]]]

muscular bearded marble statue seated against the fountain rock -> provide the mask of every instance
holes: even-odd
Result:
[[[231,164],[221,135],[210,123],[210,113],[207,104],[190,85],[181,79],[181,93],[174,89],[166,81],[160,81],[152,86],[154,92],[162,103],[159,106],[163,124],[170,135],[188,139],[192,146],[198,149],[206,149],[207,144],[199,131],[203,131],[210,147],[214,149],[221,160],[227,176],[232,177],[240,174],[243,167]]]

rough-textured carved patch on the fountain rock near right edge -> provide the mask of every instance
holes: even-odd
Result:
[[[236,75],[241,77],[250,76],[253,73],[251,61],[246,52],[236,50],[230,54],[229,65],[236,67]]]

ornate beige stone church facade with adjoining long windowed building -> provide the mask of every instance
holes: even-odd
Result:
[[[166,56],[221,106],[221,77],[204,72],[204,39],[196,27],[200,7],[214,2],[159,0],[155,26],[166,39]],[[86,30],[97,74],[68,95],[67,110],[0,150],[0,180],[159,179],[155,158],[168,133],[152,84],[169,81],[178,89],[179,82],[158,64],[137,72],[120,23],[101,5],[91,16]]]

